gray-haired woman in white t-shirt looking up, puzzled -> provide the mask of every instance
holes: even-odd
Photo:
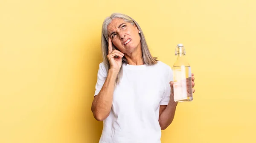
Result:
[[[177,106],[171,67],[152,57],[139,24],[125,14],[104,20],[101,42],[92,103],[93,116],[104,123],[99,143],[160,143]],[[192,74],[194,87],[193,81]]]

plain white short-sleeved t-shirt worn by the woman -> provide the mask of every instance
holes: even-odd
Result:
[[[104,63],[100,63],[95,95],[107,75]],[[171,67],[160,61],[154,66],[123,64],[99,143],[161,143],[159,107],[169,103],[172,77]]]

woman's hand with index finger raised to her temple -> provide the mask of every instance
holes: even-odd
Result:
[[[124,54],[121,51],[113,50],[112,41],[108,37],[108,61],[110,64],[110,69],[119,70],[122,66],[122,57]]]

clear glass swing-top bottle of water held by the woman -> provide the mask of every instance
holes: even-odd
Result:
[[[189,102],[193,100],[191,67],[186,60],[186,51],[183,44],[178,44],[175,49],[177,60],[173,70],[173,91],[175,102]]]

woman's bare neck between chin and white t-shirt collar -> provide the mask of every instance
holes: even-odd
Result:
[[[125,54],[125,58],[129,65],[144,65],[141,46],[138,46],[138,48],[130,54]]]

